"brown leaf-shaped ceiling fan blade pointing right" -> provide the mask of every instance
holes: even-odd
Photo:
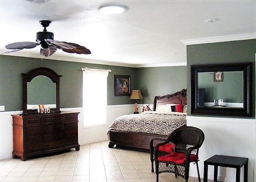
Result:
[[[45,41],[51,45],[56,46],[58,49],[62,49],[62,51],[65,51],[68,53],[91,54],[91,51],[89,49],[78,44],[74,44],[70,42],[60,42],[60,41],[51,40],[51,39],[46,39]]]

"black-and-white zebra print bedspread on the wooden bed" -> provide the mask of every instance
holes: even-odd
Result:
[[[160,135],[169,135],[175,129],[186,125],[186,114],[159,114],[159,113],[141,113],[134,115],[124,115],[115,119],[108,128],[107,134],[111,130],[154,133]]]

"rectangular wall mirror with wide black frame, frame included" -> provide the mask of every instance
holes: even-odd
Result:
[[[192,65],[191,114],[251,116],[251,63]]]

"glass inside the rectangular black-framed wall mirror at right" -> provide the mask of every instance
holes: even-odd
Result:
[[[215,81],[218,73],[198,73],[198,107],[243,108],[243,71],[221,72],[221,81]]]

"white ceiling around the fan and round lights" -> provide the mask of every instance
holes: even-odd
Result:
[[[106,4],[128,10],[100,13],[98,8]],[[36,32],[43,30],[39,20],[52,21],[47,30],[54,40],[92,52],[58,49],[45,58],[37,46],[8,53],[43,59],[132,67],[186,65],[186,44],[256,38],[256,0],[1,0],[0,12],[0,52],[12,42],[35,42]],[[205,22],[210,18],[220,21]]]

